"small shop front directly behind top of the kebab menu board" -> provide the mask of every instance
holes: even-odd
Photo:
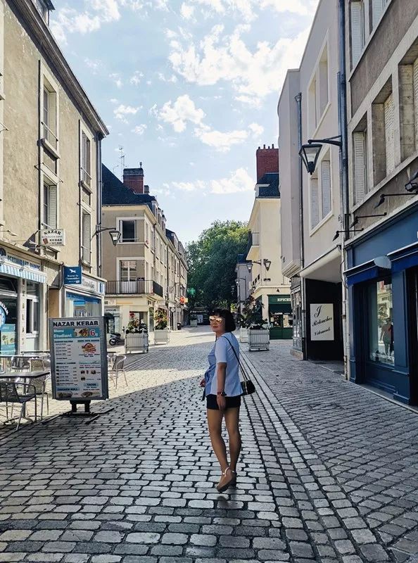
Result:
[[[81,284],[65,285],[65,317],[101,317],[104,283],[82,275]]]

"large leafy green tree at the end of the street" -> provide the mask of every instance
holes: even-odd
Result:
[[[246,252],[248,227],[239,221],[215,221],[197,241],[187,245],[189,264],[189,308],[213,305],[230,308],[234,303],[231,286],[235,286],[236,257]]]

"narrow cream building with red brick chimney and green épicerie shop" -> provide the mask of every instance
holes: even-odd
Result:
[[[246,260],[251,270],[251,296],[262,306],[262,318],[270,323],[271,339],[291,338],[289,280],[281,268],[279,151],[258,148],[257,184],[248,228]]]

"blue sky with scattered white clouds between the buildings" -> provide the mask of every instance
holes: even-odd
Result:
[[[103,163],[145,184],[183,243],[248,221],[255,151],[318,0],[53,0],[51,30],[109,129]],[[122,150],[120,150],[122,147]]]

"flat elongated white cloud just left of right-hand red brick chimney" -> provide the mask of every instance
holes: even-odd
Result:
[[[167,186],[167,188],[169,187],[168,184],[165,184],[165,186]],[[171,186],[180,191],[199,191],[203,195],[207,193],[224,195],[236,194],[242,191],[252,191],[254,189],[254,180],[246,169],[241,167],[231,172],[229,177],[210,180],[208,182],[203,180],[194,180],[194,182],[172,182]]]

